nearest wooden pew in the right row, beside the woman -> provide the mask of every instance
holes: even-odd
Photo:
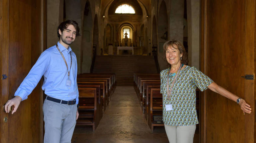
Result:
[[[163,103],[162,94],[160,93],[160,88],[151,88],[150,90],[150,102],[148,108],[148,125],[151,132],[154,131],[154,126],[164,126],[163,123]]]

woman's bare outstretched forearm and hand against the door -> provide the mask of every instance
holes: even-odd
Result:
[[[230,100],[233,100],[236,102],[236,100],[239,98],[238,96],[234,95],[233,93],[227,91],[225,88],[219,86],[217,83],[212,82],[208,88]],[[245,102],[244,99],[241,99],[239,102],[240,108],[243,112],[250,114],[251,113],[251,106]]]

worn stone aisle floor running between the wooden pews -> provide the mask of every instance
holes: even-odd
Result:
[[[151,133],[133,86],[117,86],[95,132],[75,127],[72,143],[168,143],[164,127]]]

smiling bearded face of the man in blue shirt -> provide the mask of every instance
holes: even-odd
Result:
[[[63,43],[70,45],[75,40],[76,29],[73,25],[68,25],[66,29],[62,32],[59,29],[59,33],[61,34],[60,41]]]

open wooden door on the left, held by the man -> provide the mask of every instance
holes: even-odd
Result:
[[[42,142],[41,81],[13,115],[3,112],[3,104],[14,97],[44,49],[44,12],[45,0],[0,0],[0,68],[7,75],[0,84],[1,143]]]

